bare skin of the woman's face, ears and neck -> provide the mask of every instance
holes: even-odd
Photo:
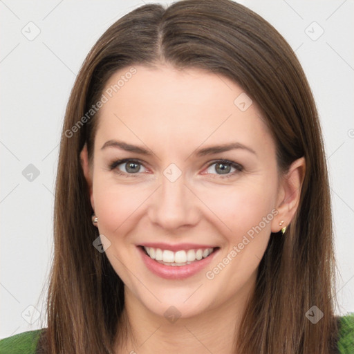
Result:
[[[81,153],[97,227],[111,242],[106,256],[125,284],[129,335],[122,344],[117,340],[116,353],[231,353],[270,232],[295,215],[304,158],[279,176],[274,141],[257,103],[241,111],[234,100],[243,90],[227,77],[165,64],[136,69],[100,109],[92,166],[86,145]],[[115,73],[106,88],[127,71]],[[152,155],[101,149],[108,140],[144,147]],[[196,149],[228,142],[254,153],[233,149],[196,156]],[[109,170],[122,158],[140,160],[138,173],[129,175],[125,162]],[[231,168],[230,177],[223,178],[215,168],[220,159],[243,170]],[[171,163],[182,172],[174,182],[163,174]],[[272,210],[276,215],[261,232],[214,279],[207,279],[206,272]],[[138,252],[137,245],[147,241],[217,245],[220,250],[194,276],[162,279],[146,268]],[[174,323],[164,316],[170,306],[180,313]]]

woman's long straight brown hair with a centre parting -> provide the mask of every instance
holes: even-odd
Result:
[[[116,21],[88,53],[71,91],[60,142],[43,353],[113,353],[115,335],[124,336],[124,284],[105,253],[93,247],[98,231],[91,223],[93,209],[80,165],[85,143],[92,162],[99,111],[80,118],[100,100],[113,73],[163,62],[203,68],[239,84],[268,124],[279,171],[301,156],[306,159],[297,214],[283,237],[270,235],[235,352],[330,353],[337,333],[335,263],[317,109],[285,39],[259,15],[230,0],[141,6]],[[317,324],[306,318],[312,306],[324,313]]]

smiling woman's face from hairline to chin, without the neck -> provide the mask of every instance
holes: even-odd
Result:
[[[95,136],[91,203],[106,256],[126,297],[156,315],[245,299],[283,198],[256,102],[221,75],[135,68],[106,84]]]

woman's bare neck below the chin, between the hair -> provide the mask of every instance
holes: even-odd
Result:
[[[125,328],[126,336],[117,339],[115,353],[235,353],[241,317],[254,290],[253,280],[221,306],[173,322],[152,313],[126,288],[122,326],[119,328],[120,331]]]

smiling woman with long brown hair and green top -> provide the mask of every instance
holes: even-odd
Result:
[[[322,134],[290,46],[232,1],[141,6],[68,102],[48,328],[0,348],[352,353],[333,269]]]

